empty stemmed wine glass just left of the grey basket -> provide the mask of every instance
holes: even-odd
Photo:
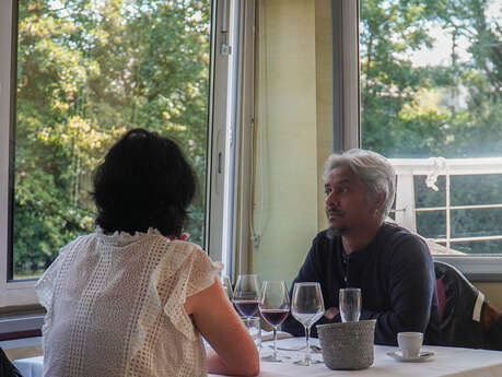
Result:
[[[319,283],[304,282],[294,284],[291,314],[305,327],[306,339],[305,360],[300,360],[294,364],[310,366],[312,364],[311,327],[324,314],[324,301]]]

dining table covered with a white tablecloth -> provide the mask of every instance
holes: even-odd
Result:
[[[311,339],[312,345],[319,345],[317,339]],[[294,362],[302,360],[305,353],[305,338],[278,340],[281,363],[260,362],[260,377],[502,377],[502,352],[424,345],[422,351],[433,355],[422,362],[399,362],[388,353],[397,351],[395,346],[374,345],[374,362],[366,369],[331,370],[323,363],[322,351],[312,351],[314,362],[311,366],[301,366]],[[318,349],[317,349],[318,350]],[[272,352],[272,342],[262,342],[260,356]],[[14,361],[23,377],[42,377],[44,357],[35,356]],[[210,377],[220,375],[209,374]]]

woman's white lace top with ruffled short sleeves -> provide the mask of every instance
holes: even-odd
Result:
[[[44,376],[207,376],[184,303],[220,270],[199,246],[154,229],[77,238],[37,283]]]

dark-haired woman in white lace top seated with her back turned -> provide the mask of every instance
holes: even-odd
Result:
[[[196,182],[154,132],[128,131],[108,151],[94,174],[96,233],[65,246],[37,284],[45,376],[258,374],[221,263],[179,239]]]

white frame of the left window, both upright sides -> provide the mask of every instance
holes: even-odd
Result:
[[[1,0],[0,12],[0,308],[38,305],[35,293],[36,280],[8,281],[9,252],[9,197],[10,197],[10,144],[11,125],[15,114],[11,93],[15,86],[13,69],[16,67],[16,47],[12,43],[16,25],[13,12],[16,0]],[[211,17],[211,67],[208,122],[208,168],[207,168],[207,216],[206,248],[214,260],[223,260],[233,269],[233,180],[235,143],[232,128],[235,128],[238,93],[237,58],[221,54],[225,27],[227,45],[234,56],[240,43],[240,20],[242,9],[238,0],[213,0]],[[214,19],[215,17],[215,19]],[[225,17],[223,20],[223,17]],[[215,27],[214,27],[215,25]],[[213,31],[214,27],[214,31]],[[229,28],[229,27],[233,27]],[[232,46],[233,45],[233,46]],[[232,84],[232,85],[230,85]],[[219,166],[219,163],[221,164]],[[220,167],[220,168],[219,168]],[[19,311],[19,310],[16,310]],[[37,320],[39,318],[37,317]],[[0,327],[0,332],[5,326]]]

